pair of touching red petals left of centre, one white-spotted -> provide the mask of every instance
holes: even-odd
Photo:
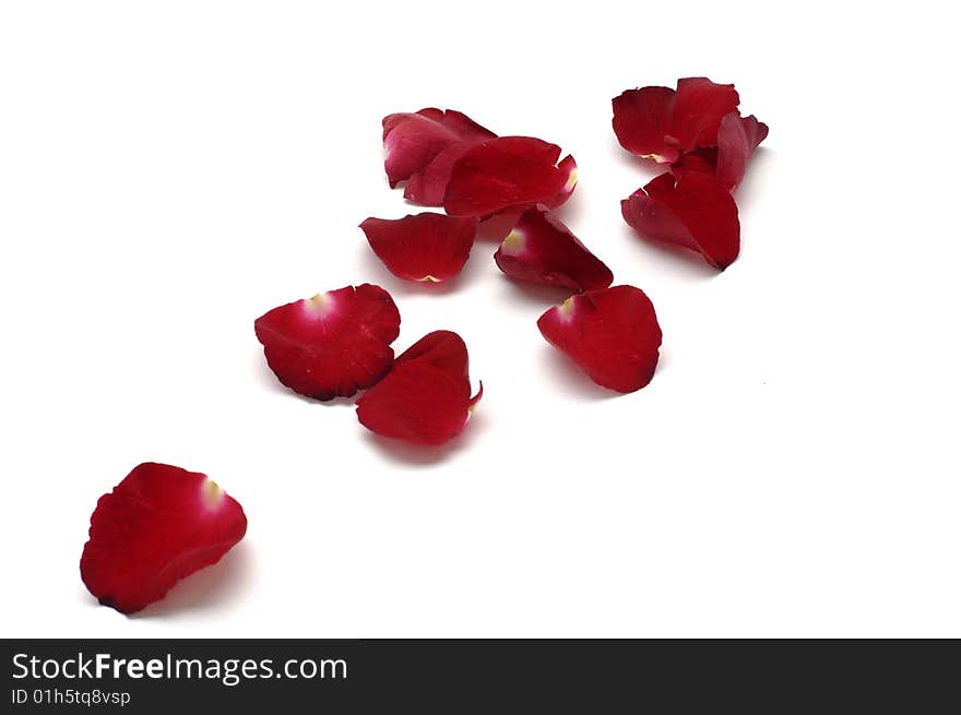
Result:
[[[476,230],[476,219],[439,217]],[[400,323],[390,295],[365,284],[274,308],[254,327],[285,385],[318,400],[367,390],[357,401],[365,427],[416,444],[440,444],[463,431],[480,398],[471,396],[467,346],[456,333],[436,331],[394,359],[390,344]]]

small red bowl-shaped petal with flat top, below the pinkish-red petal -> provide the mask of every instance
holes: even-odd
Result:
[[[395,276],[437,283],[454,277],[464,267],[477,224],[473,217],[424,213],[394,221],[368,218],[360,228]]]

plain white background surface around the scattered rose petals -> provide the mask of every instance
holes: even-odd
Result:
[[[961,636],[958,56],[926,4],[4,2],[0,633]],[[654,171],[610,130],[702,74],[771,127],[721,275],[622,223]],[[440,289],[377,261],[357,224],[419,211],[380,119],[425,106],[574,154],[560,215],[654,301],[650,386],[569,367],[535,326],[566,296],[494,242]],[[254,318],[363,282],[399,350],[464,336],[485,396],[448,448],[268,371]],[[78,562],[149,460],[250,527],[126,618]]]

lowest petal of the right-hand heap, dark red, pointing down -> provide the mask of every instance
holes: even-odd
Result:
[[[697,251],[721,271],[740,250],[737,205],[727,187],[708,174],[662,174],[621,201],[620,210],[638,233]]]

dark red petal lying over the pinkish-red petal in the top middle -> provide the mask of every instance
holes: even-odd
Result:
[[[572,156],[532,136],[501,136],[472,147],[453,166],[443,207],[453,216],[491,216],[543,203],[556,208],[578,182]]]

